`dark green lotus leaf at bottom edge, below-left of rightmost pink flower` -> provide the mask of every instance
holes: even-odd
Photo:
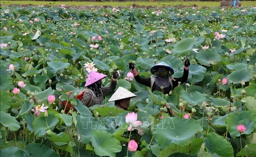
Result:
[[[204,143],[210,153],[216,153],[220,157],[234,156],[231,143],[229,143],[223,136],[220,136],[215,132],[208,133]]]

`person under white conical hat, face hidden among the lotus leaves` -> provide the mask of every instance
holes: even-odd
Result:
[[[130,99],[135,96],[135,94],[120,86],[108,101],[115,101],[117,108],[127,110],[130,107]]]

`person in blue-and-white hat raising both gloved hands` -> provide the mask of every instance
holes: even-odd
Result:
[[[182,84],[188,80],[189,66],[190,62],[186,59],[183,76],[180,78],[173,78],[172,75],[174,74],[174,70],[172,67],[161,62],[150,69],[150,72],[153,74],[152,77],[142,78],[138,75],[134,63],[129,63],[129,69],[132,70],[132,74],[138,83],[150,87],[152,92],[154,90],[159,90],[164,94],[169,94],[176,86],[178,86],[178,82]]]

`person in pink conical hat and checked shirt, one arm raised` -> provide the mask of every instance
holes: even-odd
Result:
[[[101,86],[101,80],[105,77],[107,77],[107,75],[94,71],[90,72],[85,84],[85,87],[88,88],[88,90],[84,92],[81,100],[85,106],[90,107],[96,104],[101,104],[104,96],[114,91],[116,88],[118,72],[114,71],[112,74],[112,81],[110,82],[110,86]]]

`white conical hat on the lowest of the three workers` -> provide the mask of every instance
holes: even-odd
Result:
[[[136,95],[127,90],[126,88],[119,87],[116,92],[111,96],[111,98],[108,101],[116,101],[116,100],[121,100],[125,98],[132,98],[135,97]]]

